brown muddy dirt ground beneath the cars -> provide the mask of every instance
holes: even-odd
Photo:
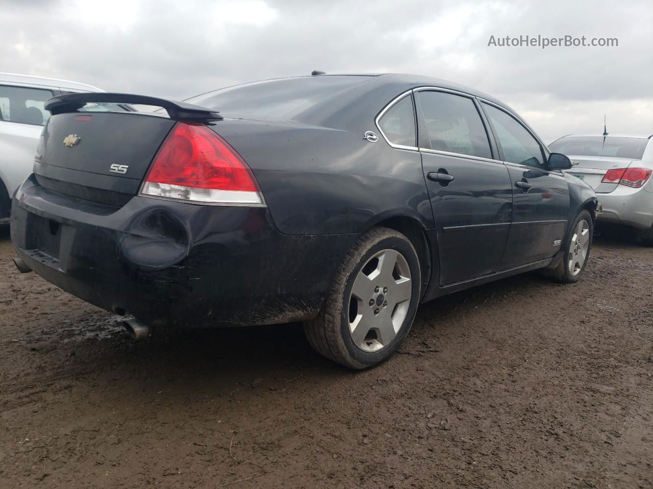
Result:
[[[134,343],[11,256],[0,231],[2,489],[653,487],[651,248],[425,304],[365,372],[296,325]]]

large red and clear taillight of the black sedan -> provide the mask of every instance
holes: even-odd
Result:
[[[246,162],[202,125],[177,123],[154,158],[141,193],[199,203],[261,205]]]

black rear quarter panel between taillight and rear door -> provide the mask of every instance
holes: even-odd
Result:
[[[359,130],[227,120],[213,127],[251,167],[282,233],[362,233],[400,215],[432,228],[421,156],[364,140],[366,130],[378,132],[374,115]]]

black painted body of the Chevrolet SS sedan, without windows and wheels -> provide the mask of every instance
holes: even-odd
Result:
[[[480,160],[396,149],[375,125],[390,100],[417,87],[509,110],[498,100],[419,76],[351,80],[284,117],[221,111],[223,120],[206,121],[251,167],[266,208],[138,196],[175,123],[166,117],[53,115],[12,206],[18,255],[72,294],[148,323],[283,323],[317,315],[345,254],[379,223],[411,235],[423,251],[428,300],[549,265],[570,220],[582,207],[596,209],[594,191],[578,179],[504,164],[492,134],[495,159]],[[424,121],[417,126],[421,138]],[[379,140],[365,140],[366,131]],[[76,147],[63,145],[68,134],[80,136]],[[130,172],[110,173],[114,163]],[[530,188],[515,185],[523,181]]]

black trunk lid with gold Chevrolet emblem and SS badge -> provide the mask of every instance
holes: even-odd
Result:
[[[138,193],[174,123],[138,112],[52,115],[39,141],[35,178],[54,192],[121,207]]]

